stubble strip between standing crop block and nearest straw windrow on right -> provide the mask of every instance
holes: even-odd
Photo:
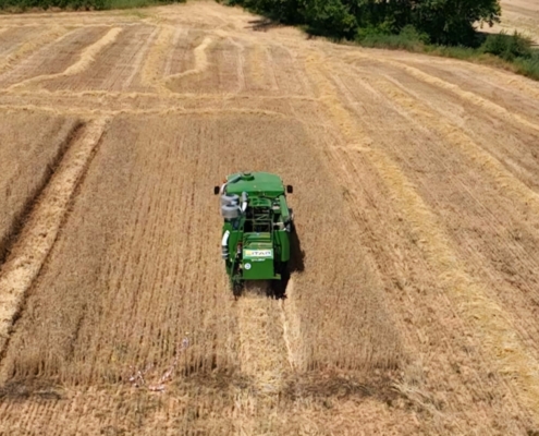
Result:
[[[464,432],[475,426],[478,429],[501,426],[509,432],[517,431],[522,425],[518,422],[522,416],[515,415],[514,405],[505,402],[507,387],[500,379],[492,379],[494,373],[489,368],[489,363],[483,361],[481,346],[476,341],[475,334],[460,319],[458,310],[455,311],[457,307],[452,307],[454,303],[446,298],[446,284],[440,281],[441,277],[436,276],[431,261],[426,258],[421,250],[425,243],[421,230],[418,232],[414,226],[409,228],[407,225],[408,220],[414,223],[416,218],[407,216],[406,209],[400,209],[395,199],[393,205],[384,205],[383,198],[394,195],[391,191],[401,190],[399,179],[396,184],[389,186],[383,180],[396,175],[396,167],[392,168],[383,155],[377,156],[377,143],[371,141],[366,130],[362,130],[365,128],[355,126],[348,112],[339,108],[334,100],[338,86],[329,85],[330,78],[318,76],[315,80],[322,86],[324,99],[331,102],[341,132],[346,132],[342,146],[335,147],[339,137],[326,145],[326,149],[332,150],[328,153],[331,166],[341,168],[346,196],[353,205],[351,207],[356,219],[365,229],[362,240],[376,258],[389,292],[387,301],[393,303],[391,313],[406,336],[413,356],[411,364],[403,368],[404,383],[400,389],[436,416],[438,432]],[[342,96],[344,107],[354,107],[346,100]],[[388,113],[388,108],[382,109],[377,124],[368,125],[381,125],[378,122]],[[320,121],[316,118],[313,120],[315,135],[320,134],[317,129]],[[388,125],[391,123],[388,122]],[[362,133],[354,137],[357,132]],[[388,138],[388,132],[391,131],[383,131],[384,138]],[[357,140],[363,144],[355,144]],[[371,158],[369,155],[375,156]],[[381,171],[382,180],[377,181],[379,174],[372,173],[372,162],[376,172]],[[404,187],[405,191],[407,189]],[[362,203],[365,207],[360,206]],[[380,208],[382,210],[377,213]],[[462,398],[470,396],[476,402],[463,408]],[[486,413],[486,409],[490,408],[497,410],[491,415],[492,421],[486,424],[475,420],[475,416]],[[501,413],[504,413],[504,419],[499,417]]]

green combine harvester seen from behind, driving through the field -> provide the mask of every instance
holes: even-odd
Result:
[[[292,192],[268,172],[232,174],[215,187],[221,195],[222,258],[234,296],[241,295],[246,280],[271,280],[280,289],[287,277],[294,222],[286,193]]]

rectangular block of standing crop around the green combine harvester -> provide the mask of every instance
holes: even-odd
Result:
[[[291,135],[296,141],[303,136],[297,123],[281,135],[269,134],[282,128],[281,121],[255,118],[209,117],[182,123],[173,118],[147,119],[144,132],[136,125],[136,120],[117,119],[103,138],[11,339],[3,372],[12,383],[28,377],[68,385],[119,383],[154,362],[159,365],[155,372],[163,372],[176,359],[180,339],[187,339],[189,346],[182,351],[179,373],[238,370],[241,327],[211,243],[219,239],[219,217],[208,186],[215,182],[213,174],[234,167],[237,156],[249,159],[255,169],[274,167],[291,180],[299,173],[305,180],[308,171],[316,183],[323,171],[309,156],[308,146],[298,147],[298,160],[284,158]],[[254,137],[271,138],[272,148],[260,153],[252,147]],[[307,226],[319,229],[302,244],[309,253],[306,270],[320,271],[316,265],[323,263],[324,253],[314,245],[328,245],[331,239],[342,250],[351,252],[353,246],[344,234],[342,240],[331,238],[330,226],[345,226],[339,222],[338,202],[322,197],[322,213],[335,213],[322,220],[320,210],[310,209],[319,207],[320,191],[309,192],[297,202],[296,210],[299,214],[305,205],[305,216],[313,221]],[[369,327],[385,317],[376,317],[380,303],[368,296],[357,299],[367,295],[355,292],[357,283],[366,286],[366,281],[356,279],[354,269],[354,264],[343,263],[324,271],[318,286],[295,281],[296,293],[305,294],[302,308],[307,310],[309,300],[328,300],[328,305],[344,301],[347,307],[341,311],[342,319],[320,317],[313,311],[309,316],[299,315],[302,327],[310,331],[303,336],[310,365],[367,371],[372,365],[396,365],[390,358],[399,350],[395,332],[390,326]],[[334,287],[341,289],[332,302]],[[269,302],[262,300],[262,304]],[[273,308],[278,311],[277,303]],[[359,312],[364,316],[355,316]],[[41,328],[44,324],[49,327]],[[362,331],[377,335],[367,343]],[[375,347],[381,334],[385,348]],[[348,338],[350,347],[340,349],[335,337]]]

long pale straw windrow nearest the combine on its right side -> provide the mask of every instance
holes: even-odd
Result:
[[[478,343],[504,379],[513,385],[522,403],[539,424],[539,364],[522,342],[511,317],[477,283],[458,259],[451,241],[440,228],[436,215],[425,204],[400,167],[383,152],[364,147],[370,140],[359,129],[348,110],[340,101],[335,86],[324,74],[327,62],[319,56],[306,60],[307,72],[318,86],[328,111],[347,143],[359,145],[364,156],[379,172],[392,201],[406,217],[417,235],[418,245],[437,271],[448,296],[457,311],[473,326]],[[334,73],[333,71],[328,72]]]

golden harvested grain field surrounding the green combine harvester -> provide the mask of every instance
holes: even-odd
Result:
[[[260,24],[0,16],[0,434],[539,432],[539,85]],[[286,300],[226,286],[245,169]]]

